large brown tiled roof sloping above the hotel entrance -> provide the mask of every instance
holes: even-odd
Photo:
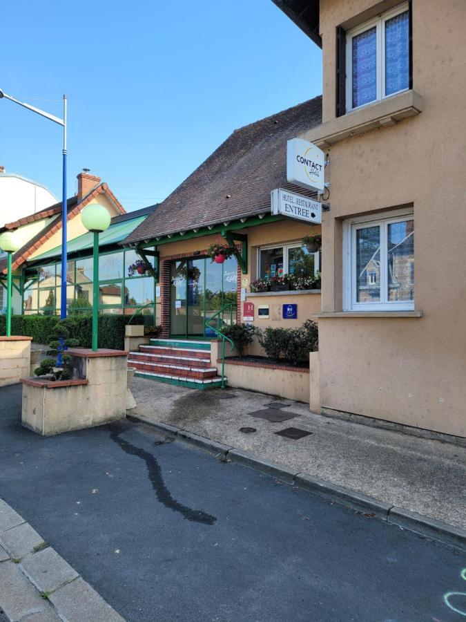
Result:
[[[287,140],[321,121],[315,97],[235,130],[124,244],[260,214],[278,187],[307,194],[287,182]]]

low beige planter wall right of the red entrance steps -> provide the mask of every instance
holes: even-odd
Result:
[[[217,360],[222,372],[222,359]],[[228,386],[295,399],[309,404],[309,369],[225,359]]]

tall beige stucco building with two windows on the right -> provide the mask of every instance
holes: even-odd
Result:
[[[300,136],[330,162],[320,406],[464,437],[466,3],[309,5],[307,32],[322,41],[322,124]],[[400,239],[391,241],[397,228]],[[371,236],[385,279],[371,276],[378,292],[365,301],[358,245]],[[401,238],[411,242],[397,275],[391,254]],[[412,292],[394,301],[391,281],[400,274]]]

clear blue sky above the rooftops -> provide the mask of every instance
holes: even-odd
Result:
[[[231,134],[322,93],[322,54],[271,0],[2,3],[0,88],[59,117],[128,209],[163,200]],[[0,100],[0,164],[61,198],[61,127]]]

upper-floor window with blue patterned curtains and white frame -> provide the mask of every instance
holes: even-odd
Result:
[[[346,33],[347,112],[409,88],[409,5]]]

